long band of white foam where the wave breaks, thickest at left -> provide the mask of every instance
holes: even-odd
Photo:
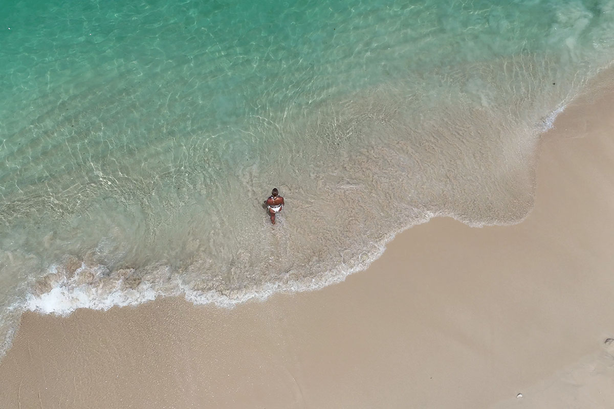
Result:
[[[427,220],[424,220],[426,222]],[[243,288],[231,294],[217,291],[198,291],[193,283],[184,283],[178,277],[169,282],[139,280],[130,283],[126,271],[109,272],[105,266],[87,266],[83,263],[74,273],[66,276],[66,270],[59,266],[50,267],[43,280],[51,277],[53,287],[47,291],[29,292],[25,300],[12,306],[12,310],[31,311],[60,316],[70,315],[78,308],[109,310],[112,307],[139,305],[157,297],[184,296],[197,305],[212,304],[222,308],[232,308],[251,299],[265,300],[277,292],[314,291],[325,286],[340,283],[355,272],[366,269],[378,259],[386,249],[386,243],[394,238],[389,235],[378,246],[378,251],[360,258],[351,266],[340,265],[307,277],[303,280],[282,279],[263,283],[253,288]],[[168,272],[168,267],[157,267],[158,272]],[[84,276],[89,277],[84,277]],[[160,278],[157,276],[156,278]],[[84,282],[87,280],[87,282]],[[50,281],[50,280],[45,280]]]

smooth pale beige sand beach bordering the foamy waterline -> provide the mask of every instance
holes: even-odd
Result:
[[[433,220],[344,283],[233,310],[27,313],[0,407],[614,407],[613,89],[546,135],[523,223]]]

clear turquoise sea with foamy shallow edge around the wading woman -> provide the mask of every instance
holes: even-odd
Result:
[[[231,305],[435,215],[516,223],[540,132],[614,58],[614,1],[257,3],[4,5],[5,347],[23,310]]]

